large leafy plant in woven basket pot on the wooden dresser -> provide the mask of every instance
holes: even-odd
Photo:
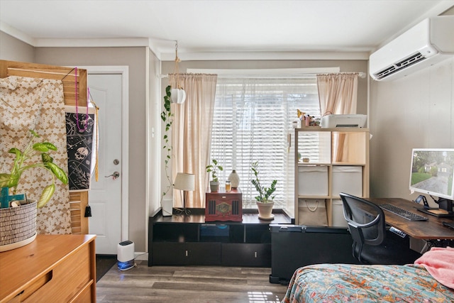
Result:
[[[49,155],[52,150],[57,150],[55,145],[49,142],[34,143],[40,136],[35,131],[30,131],[31,137],[26,149],[21,151],[18,148],[11,148],[9,153],[15,155],[11,172],[0,173],[1,187],[1,208],[0,225],[4,226],[0,230],[0,251],[17,248],[34,240],[36,236],[36,208],[45,206],[55,192],[55,177],[68,183],[66,173],[58,165],[53,163],[53,158]],[[40,158],[35,160],[34,158]],[[19,198],[17,187],[21,181],[24,171],[36,167],[43,167],[52,174],[52,184],[43,189],[38,202],[26,198]],[[9,196],[11,189],[12,197]]]

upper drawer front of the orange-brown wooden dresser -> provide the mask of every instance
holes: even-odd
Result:
[[[24,290],[18,297],[21,302],[70,302],[79,292],[94,283],[91,273],[91,246],[85,245],[62,258],[55,268],[45,275],[38,289]],[[36,284],[35,284],[36,285]],[[88,287],[90,288],[90,287]],[[88,292],[90,294],[90,291]],[[82,295],[82,298],[85,297]],[[77,300],[78,302],[82,302]]]

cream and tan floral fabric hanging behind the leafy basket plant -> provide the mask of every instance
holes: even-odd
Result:
[[[25,148],[29,129],[57,147],[52,152],[55,164],[67,172],[65,102],[60,80],[10,76],[0,79],[0,171],[11,170],[13,155],[8,150]],[[19,188],[28,198],[39,199],[43,188],[52,182],[45,169],[23,172]],[[38,233],[71,233],[70,192],[67,184],[55,182],[50,202],[38,209]]]

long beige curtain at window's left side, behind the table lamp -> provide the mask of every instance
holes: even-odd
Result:
[[[175,75],[169,75],[170,85],[175,87]],[[174,158],[172,176],[177,172],[195,175],[195,190],[187,192],[187,207],[204,208],[209,175],[205,167],[211,150],[211,126],[213,124],[214,98],[217,75],[179,74],[179,84],[186,92],[186,101],[172,104],[175,113],[172,124]],[[174,206],[182,206],[182,193],[174,189]]]

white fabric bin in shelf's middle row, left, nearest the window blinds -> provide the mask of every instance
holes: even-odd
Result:
[[[328,167],[299,166],[298,194],[301,196],[328,196]]]

